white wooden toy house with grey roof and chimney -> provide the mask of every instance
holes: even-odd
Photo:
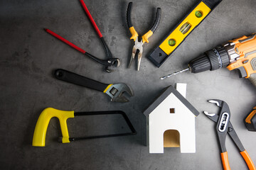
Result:
[[[164,153],[164,147],[196,152],[195,117],[199,112],[186,100],[186,84],[166,87],[144,115],[149,153]]]

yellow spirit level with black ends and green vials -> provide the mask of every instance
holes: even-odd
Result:
[[[178,23],[171,33],[149,55],[149,60],[160,67],[183,40],[196,28],[222,0],[201,0]]]

